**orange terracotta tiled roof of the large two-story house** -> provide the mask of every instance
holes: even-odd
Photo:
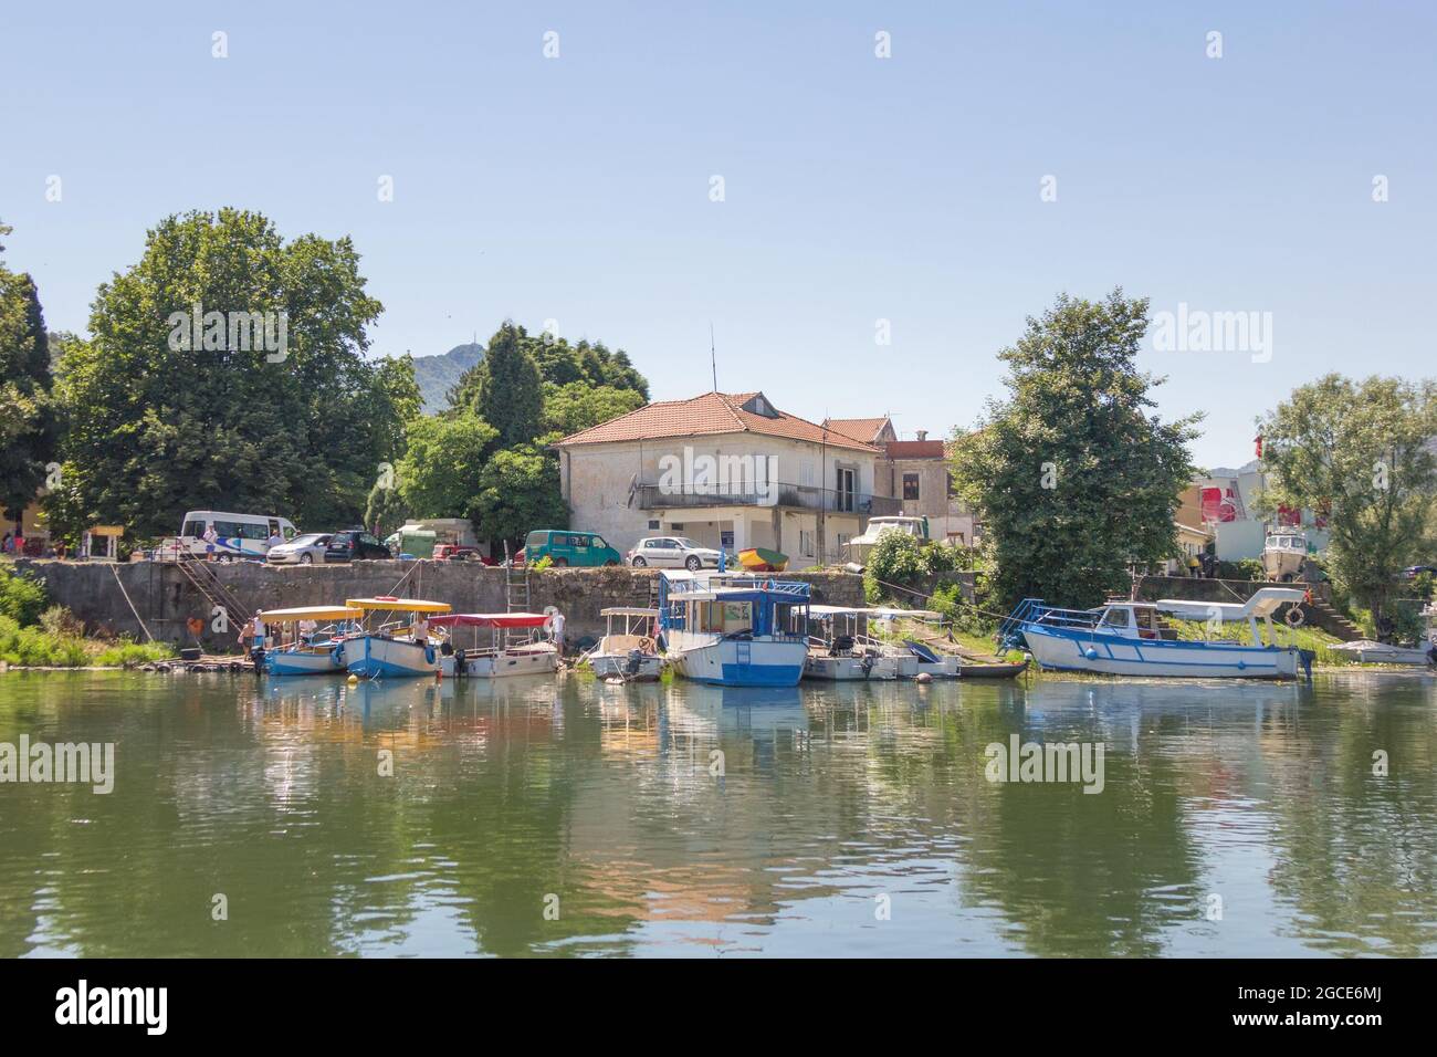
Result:
[[[743,404],[756,395],[759,394],[704,393],[688,400],[661,400],[568,436],[558,441],[558,447],[658,440],[661,437],[697,437],[714,433],[759,433],[767,437],[786,437],[856,452],[879,452],[872,444],[855,440],[852,434],[835,431],[832,427],[825,430],[808,418],[799,418],[786,411],[777,411],[777,408],[775,408],[776,418],[744,411]]]

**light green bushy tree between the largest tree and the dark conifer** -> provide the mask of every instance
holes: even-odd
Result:
[[[404,503],[418,518],[471,518],[499,430],[473,414],[414,418],[395,467]]]

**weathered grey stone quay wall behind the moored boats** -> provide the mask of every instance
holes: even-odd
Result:
[[[89,631],[145,640],[141,621],[157,640],[190,644],[185,621],[204,620],[201,643],[213,650],[233,649],[236,630],[211,631],[210,603],[185,574],[170,562],[22,561],[45,580],[50,600],[69,608]],[[354,565],[273,567],[257,562],[211,565],[220,582],[243,610],[228,614],[237,628],[254,610],[296,605],[335,605],[345,598],[394,594],[448,603],[460,613],[503,613],[506,571],[477,562],[366,561]],[[849,572],[785,572],[785,580],[813,585],[813,601],[826,605],[862,605],[864,578]],[[558,607],[568,618],[568,634],[581,639],[602,634],[599,611],[611,605],[650,605],[657,594],[652,569],[598,568],[547,569],[529,577],[529,607]],[[124,587],[124,590],[121,590]],[[128,595],[128,600],[126,600]],[[134,610],[131,608],[134,605]],[[137,620],[138,613],[138,620]]]

